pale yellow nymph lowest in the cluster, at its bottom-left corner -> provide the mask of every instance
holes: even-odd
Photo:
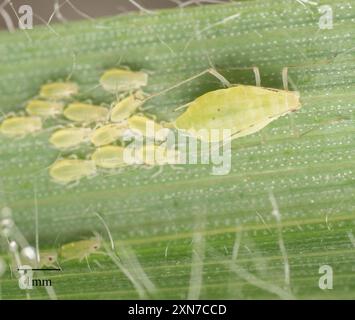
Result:
[[[55,182],[68,184],[95,175],[96,166],[90,160],[61,159],[52,164],[49,174]]]

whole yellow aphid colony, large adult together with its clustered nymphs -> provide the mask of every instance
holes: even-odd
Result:
[[[54,82],[42,85],[39,97],[28,101],[26,116],[9,116],[0,126],[0,133],[8,137],[23,137],[41,131],[43,119],[63,116],[67,125],[54,131],[50,144],[67,152],[83,143],[90,143],[94,152],[85,159],[74,156],[58,158],[49,169],[51,178],[62,184],[91,177],[100,170],[117,170],[131,164],[149,167],[179,164],[178,150],[167,150],[169,130],[174,128],[193,138],[207,142],[220,141],[222,135],[212,137],[213,130],[228,129],[231,139],[253,134],[272,121],[301,108],[298,92],[288,90],[287,67],[282,72],[284,90],[263,88],[256,67],[256,86],[231,85],[215,69],[208,69],[181,84],[206,73],[217,77],[227,88],[207,92],[186,105],[187,109],[170,123],[157,123],[152,116],[142,113],[143,104],[157,95],[176,88],[172,86],[160,93],[146,95],[142,88],[148,83],[143,71],[115,68],[103,73],[100,86],[115,96],[111,107],[75,101],[79,86],[73,82]],[[154,130],[146,130],[149,123]],[[207,135],[201,135],[201,131]],[[138,159],[126,161],[125,142],[136,133],[143,136],[144,143]],[[153,143],[152,143],[153,141]],[[170,146],[175,148],[176,146]],[[147,157],[146,154],[154,154]],[[157,157],[157,155],[160,157]],[[173,155],[171,155],[173,154]]]

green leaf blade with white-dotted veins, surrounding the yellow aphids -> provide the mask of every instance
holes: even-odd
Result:
[[[243,1],[0,33],[3,114],[23,111],[43,83],[69,75],[80,101],[110,103],[98,79],[119,65],[148,72],[147,93],[211,64],[232,83],[250,85],[246,68],[258,66],[262,86],[282,88],[282,68],[290,66],[301,94],[298,112],[233,141],[224,176],[211,175],[212,165],[164,166],[158,175],[157,167],[132,167],[69,188],[48,175],[59,156],[50,130],[0,137],[0,207],[11,208],[29,243],[36,208],[41,250],[94,231],[108,245],[95,212],[114,238],[119,260],[92,255],[90,268],[85,260],[59,261],[62,272],[41,275],[58,299],[355,298],[355,1],[331,2],[333,29],[320,29],[318,8]],[[177,107],[218,88],[205,75],[147,107],[158,120],[173,120],[183,112]],[[1,248],[10,261],[5,241]],[[323,265],[333,269],[332,290],[319,288]],[[44,288],[20,290],[16,271],[7,270],[0,286],[3,299],[49,298]]]

